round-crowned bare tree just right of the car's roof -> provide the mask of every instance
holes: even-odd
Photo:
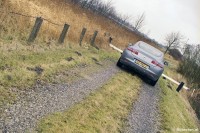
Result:
[[[173,48],[178,48],[180,46],[180,44],[182,43],[183,39],[184,39],[184,37],[179,32],[169,33],[165,37],[165,42],[167,44],[167,48],[165,50],[165,54],[172,47]]]

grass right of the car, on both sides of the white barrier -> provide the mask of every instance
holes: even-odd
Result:
[[[166,67],[165,73],[178,81],[185,79],[177,73],[178,62],[167,55],[169,66]],[[199,125],[194,110],[189,104],[185,90],[180,93],[176,92],[177,85],[170,81],[161,79],[159,81],[161,87],[160,93],[160,111],[161,111],[161,129],[162,132],[198,132]]]

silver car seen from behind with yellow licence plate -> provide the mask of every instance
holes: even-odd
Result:
[[[155,47],[139,41],[129,44],[117,62],[117,66],[127,66],[150,79],[155,86],[164,71],[164,54]]]

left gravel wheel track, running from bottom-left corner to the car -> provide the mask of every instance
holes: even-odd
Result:
[[[0,132],[33,131],[39,119],[80,102],[118,71],[115,63],[110,63],[106,69],[71,84],[37,85],[35,89],[26,92],[24,98],[5,110],[0,118]]]

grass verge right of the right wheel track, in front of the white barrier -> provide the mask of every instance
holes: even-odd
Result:
[[[196,130],[198,125],[188,101],[183,98],[181,93],[176,92],[175,86],[172,85],[172,89],[170,89],[168,85],[169,81],[160,80],[161,128],[163,132],[176,133],[178,129]]]

